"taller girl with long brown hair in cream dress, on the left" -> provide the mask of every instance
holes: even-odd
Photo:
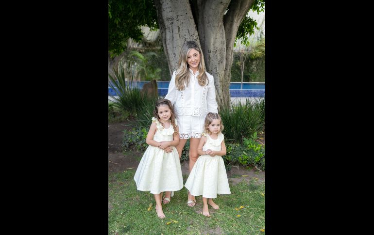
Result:
[[[157,216],[165,218],[161,205],[162,192],[183,188],[181,163],[174,147],[179,143],[179,134],[168,99],[157,100],[153,115],[147,134],[149,146],[136,169],[134,180],[137,190],[154,194]]]

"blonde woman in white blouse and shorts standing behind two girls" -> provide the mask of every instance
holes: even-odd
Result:
[[[185,42],[179,54],[178,69],[173,72],[166,99],[174,106],[179,127],[179,158],[189,139],[189,172],[198,156],[197,148],[204,130],[204,119],[209,112],[218,113],[213,76],[206,72],[204,55],[194,41]],[[163,203],[170,202],[166,192]],[[187,205],[195,206],[195,196],[188,191]]]

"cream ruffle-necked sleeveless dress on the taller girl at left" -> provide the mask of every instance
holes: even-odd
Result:
[[[154,141],[172,141],[174,128],[165,129],[156,118],[157,131],[153,136]],[[175,122],[176,124],[177,122]],[[178,191],[183,188],[181,163],[177,149],[171,146],[173,151],[166,153],[164,150],[149,145],[136,169],[134,180],[137,190],[150,191],[158,194],[164,191]]]

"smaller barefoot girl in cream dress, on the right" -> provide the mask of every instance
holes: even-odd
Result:
[[[197,152],[201,155],[189,173],[185,187],[191,195],[203,195],[203,215],[209,217],[208,204],[214,209],[217,194],[230,194],[229,182],[223,159],[226,145],[221,131],[222,120],[218,113],[209,112],[205,118],[205,131],[202,133]]]

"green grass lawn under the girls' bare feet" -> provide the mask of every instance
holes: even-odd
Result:
[[[210,217],[200,214],[202,197],[194,207],[187,206],[187,189],[174,192],[169,204],[163,205],[166,218],[159,219],[150,192],[136,190],[135,169],[109,173],[108,235],[179,235],[179,234],[258,234],[265,232],[265,183],[230,184],[231,194],[217,195],[219,210],[209,206]],[[183,176],[186,182],[187,176]],[[151,210],[147,210],[152,203]],[[235,208],[243,206],[238,211]],[[240,215],[240,217],[237,217]],[[167,222],[175,220],[177,222]],[[261,229],[261,230],[260,230]]]

